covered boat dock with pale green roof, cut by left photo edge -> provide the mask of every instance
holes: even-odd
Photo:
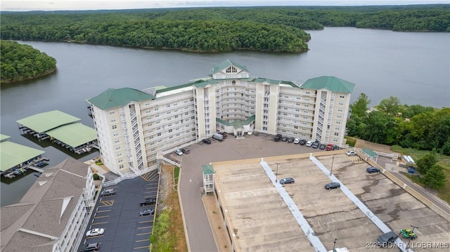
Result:
[[[13,178],[16,175],[25,173],[27,169],[33,169],[41,172],[36,166],[43,166],[45,161],[49,161],[46,157],[42,157],[44,151],[19,145],[10,142],[10,136],[0,134],[0,171],[7,178]]]

